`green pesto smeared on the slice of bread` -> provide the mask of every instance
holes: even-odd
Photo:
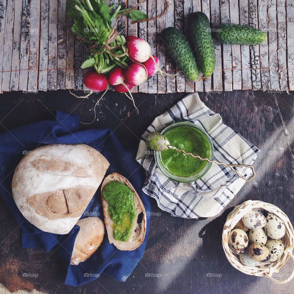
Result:
[[[114,238],[127,241],[136,217],[134,193],[128,186],[118,181],[109,182],[102,193],[108,202],[108,213],[114,222]]]

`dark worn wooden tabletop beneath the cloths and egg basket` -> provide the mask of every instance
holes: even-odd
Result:
[[[53,119],[57,109],[79,114],[82,122],[90,122],[98,97],[95,95],[76,99],[67,91],[1,94],[0,130]],[[44,252],[21,248],[20,229],[0,200],[0,282],[10,292],[36,289],[42,293],[62,294],[293,293],[294,280],[276,285],[265,277],[245,275],[233,268],[224,255],[221,232],[230,207],[248,199],[260,199],[279,206],[294,224],[294,95],[252,91],[199,95],[208,107],[220,113],[224,123],[262,150],[254,163],[256,178],[244,185],[222,215],[200,221],[171,217],[152,199],[153,216],[146,251],[126,282],[102,275],[96,281],[75,288],[63,284],[65,270],[54,250]],[[185,93],[134,94],[140,111],[137,115],[125,96],[108,92],[97,107],[97,120],[81,127],[111,127],[123,143],[137,146],[142,132],[152,120],[184,96]],[[288,261],[276,277],[283,279],[293,267]],[[24,272],[38,273],[39,276],[25,278],[22,276]],[[208,273],[219,277],[208,277]],[[0,288],[0,293],[9,292]]]

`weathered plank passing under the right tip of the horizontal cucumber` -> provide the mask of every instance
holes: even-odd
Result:
[[[258,25],[263,32],[268,32],[268,17],[267,17],[268,0],[259,0],[258,2]],[[259,45],[260,68],[261,68],[261,83],[263,91],[270,89],[269,76],[269,45],[268,42],[263,42]]]

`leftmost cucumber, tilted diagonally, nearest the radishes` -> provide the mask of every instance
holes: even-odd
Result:
[[[165,28],[160,34],[164,47],[175,61],[176,66],[194,81],[198,78],[198,67],[185,36],[176,28]]]

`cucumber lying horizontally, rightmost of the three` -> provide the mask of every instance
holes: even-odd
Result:
[[[258,45],[266,40],[267,35],[246,25],[222,24],[213,28],[213,37],[224,44]]]

